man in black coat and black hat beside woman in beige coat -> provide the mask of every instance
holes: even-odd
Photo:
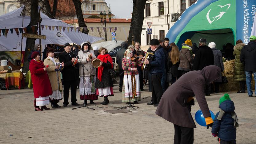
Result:
[[[76,80],[78,79],[78,75],[75,67],[72,66],[75,60],[75,55],[70,53],[71,45],[69,43],[65,43],[64,50],[64,53],[62,53],[59,57],[60,62],[64,62],[65,64],[65,68],[62,70],[62,78],[64,81],[63,106],[67,106],[69,104],[69,88],[71,89],[71,104],[72,106],[78,106],[79,104],[76,102]]]

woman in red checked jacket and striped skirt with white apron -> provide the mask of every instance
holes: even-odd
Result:
[[[124,52],[124,58],[122,59],[122,68],[124,70],[124,80],[123,80],[123,89],[122,89],[122,102],[134,102],[137,104],[138,101],[141,100],[141,93],[140,93],[140,78],[137,66],[142,66],[142,62],[132,61],[131,58],[133,56],[133,51],[127,49]],[[144,60],[144,58],[143,58]],[[142,61],[143,61],[142,60]],[[127,79],[128,75],[128,79]],[[128,84],[129,83],[129,90]],[[129,101],[129,94],[130,94],[130,101]]]

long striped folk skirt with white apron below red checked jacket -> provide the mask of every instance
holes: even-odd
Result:
[[[129,83],[129,92],[128,92],[128,85],[127,85],[127,77],[124,76],[123,89],[122,89],[122,102],[129,102],[129,93],[130,93],[131,102],[141,100],[139,75],[138,74],[128,75],[128,83]]]

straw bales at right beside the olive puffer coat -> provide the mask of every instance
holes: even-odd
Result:
[[[235,91],[240,89],[239,81],[234,81],[233,74],[226,75],[228,82],[220,84],[220,92]],[[252,76],[252,90],[254,90],[254,78]],[[245,87],[246,88],[246,87]]]

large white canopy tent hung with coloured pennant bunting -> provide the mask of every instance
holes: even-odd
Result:
[[[21,28],[22,27],[22,16],[20,16],[22,12],[23,6],[20,7],[17,10],[14,10],[10,13],[4,14],[0,16],[0,29],[11,29],[11,28]],[[47,25],[47,26],[65,26],[65,27],[72,27],[61,20],[57,19],[51,19],[45,14],[41,12],[41,18],[42,22],[41,25]],[[30,17],[29,16],[24,16],[23,18],[23,27],[26,27],[30,23]],[[13,30],[13,34],[11,34],[10,30],[7,34],[7,37],[5,37],[1,32],[0,36],[0,51],[20,51],[21,50],[21,34],[17,35],[15,30]],[[61,33],[61,37],[57,36],[57,33]],[[38,34],[39,34],[39,29],[38,29]],[[46,30],[46,27],[44,29],[41,29],[41,35],[46,35],[45,40],[41,40],[42,48],[44,49],[44,45],[50,43],[50,44],[59,44],[59,45],[64,45],[66,42],[69,43],[76,43],[76,44],[81,44],[82,42],[90,42],[94,43],[98,40],[102,40],[104,38],[99,38],[99,37],[94,37],[94,36],[89,36],[88,34],[81,33],[78,30],[71,31],[71,29],[66,30],[63,32],[63,29],[57,30],[56,28],[53,30],[49,30],[49,27]],[[36,40],[35,43],[39,43],[39,39]],[[23,43],[22,43],[22,50],[25,50],[26,46],[26,38],[23,38]]]

